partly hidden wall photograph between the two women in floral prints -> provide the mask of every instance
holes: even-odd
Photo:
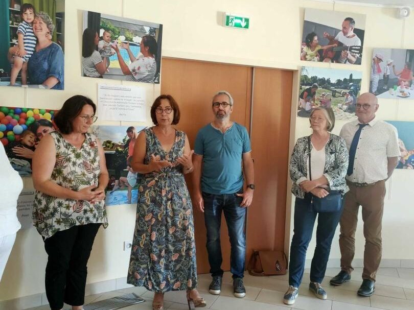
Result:
[[[136,204],[140,175],[131,168],[131,158],[138,133],[143,126],[93,126],[92,133],[102,143],[109,181],[106,186],[107,206]]]

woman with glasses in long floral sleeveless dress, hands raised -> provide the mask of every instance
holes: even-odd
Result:
[[[151,107],[156,126],[139,134],[132,160],[142,181],[128,283],[155,292],[155,310],[163,309],[168,291],[187,290],[189,306],[206,305],[196,290],[193,211],[183,176],[193,170],[193,151],[186,134],[171,126],[179,117],[175,100],[159,96]]]

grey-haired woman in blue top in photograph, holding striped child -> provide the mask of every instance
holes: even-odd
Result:
[[[37,43],[27,64],[30,84],[34,87],[64,89],[63,51],[59,44],[49,39],[54,30],[52,18],[45,12],[38,12],[33,21]]]

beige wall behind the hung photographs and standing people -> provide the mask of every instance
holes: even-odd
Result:
[[[313,7],[366,14],[365,46],[362,91],[369,86],[370,58],[373,47],[414,48],[414,17],[395,18],[395,9],[346,6],[313,1],[281,0],[164,0],[143,5],[142,1],[121,0],[84,1],[67,0],[65,6],[65,90],[44,91],[36,89],[0,89],[2,103],[6,106],[26,106],[58,109],[64,100],[74,94],[85,94],[97,99],[96,79],[81,78],[81,25],[80,10],[142,19],[164,25],[163,56],[265,66],[297,70],[303,63],[298,61],[302,37],[304,8]],[[228,29],[221,26],[220,12],[235,12],[251,17],[248,31]],[[326,65],[326,64],[318,64]],[[336,68],[344,65],[335,65]],[[180,74],[177,72],[177,74]],[[297,77],[297,74],[294,75]],[[297,82],[297,79],[296,81]],[[116,84],[117,81],[105,80]],[[127,83],[127,82],[123,82]],[[159,85],[146,85],[147,102],[159,94]],[[294,96],[297,92],[294,92]],[[291,104],[291,102],[286,102]],[[148,113],[149,114],[149,113]],[[388,120],[414,121],[414,102],[380,101],[378,117]],[[296,120],[295,118],[293,118]],[[119,125],[119,122],[99,124]],[[122,125],[128,125],[122,122]],[[144,125],[144,124],[142,124]],[[337,122],[339,132],[343,122]],[[291,136],[308,134],[307,120],[292,123]],[[286,133],[288,134],[288,133]],[[293,144],[291,141],[291,145]],[[414,174],[397,171],[391,182],[384,212],[383,256],[385,258],[414,259],[412,244],[414,235],[414,209],[411,206],[410,181]],[[28,182],[30,183],[30,182]],[[290,221],[290,203],[288,203]],[[125,277],[129,255],[123,252],[123,241],[132,237],[135,217],[134,206],[108,208],[109,227],[100,230],[89,260],[88,283]],[[289,222],[288,222],[289,223]],[[289,244],[290,227],[287,228],[286,244]],[[361,226],[357,232],[356,258],[362,257],[363,240]],[[312,241],[313,242],[313,241]],[[312,254],[314,243],[309,247]],[[331,258],[339,257],[335,238]],[[0,283],[0,300],[44,292],[44,267],[46,255],[41,237],[35,229],[20,231],[13,248],[5,274]]]

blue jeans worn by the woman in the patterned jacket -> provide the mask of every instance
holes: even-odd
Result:
[[[306,194],[305,199],[296,198],[295,200],[293,238],[290,245],[289,285],[293,285],[296,288],[302,282],[306,251],[312,238],[316,214],[318,214],[313,209],[311,197],[311,194]],[[325,277],[332,239],[343,210],[343,198],[341,204],[341,209],[337,212],[318,214],[316,248],[310,272],[310,280],[312,282],[321,283]]]

